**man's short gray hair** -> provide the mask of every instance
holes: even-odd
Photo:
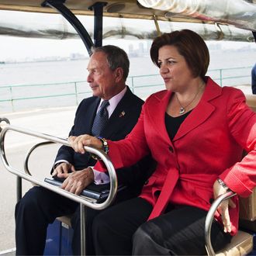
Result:
[[[123,80],[126,81],[126,78],[129,74],[130,61],[126,52],[114,45],[105,45],[103,47],[93,47],[92,54],[97,52],[103,52],[107,56],[107,61],[109,68],[114,71],[117,67],[123,69]]]

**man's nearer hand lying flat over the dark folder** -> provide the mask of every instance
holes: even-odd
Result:
[[[75,195],[80,195],[81,191],[92,182],[94,182],[92,168],[85,168],[84,170],[74,171],[69,174],[61,185],[61,188]]]

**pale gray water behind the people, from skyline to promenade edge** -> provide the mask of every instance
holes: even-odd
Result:
[[[225,71],[223,76],[246,76],[245,78],[233,78],[223,81],[223,85],[250,85],[251,67],[256,59],[256,47],[247,47],[239,50],[216,50],[210,49],[209,70],[247,67],[246,69]],[[54,106],[74,106],[81,99],[90,96],[92,93],[86,83],[88,59],[74,61],[45,61],[17,64],[0,64],[0,112],[20,111],[31,108],[46,108]],[[131,78],[127,80],[128,85],[132,82],[136,86],[156,85],[151,88],[136,88],[135,93],[146,98],[153,92],[164,88],[163,82],[158,75],[157,67],[152,64],[149,56],[130,57],[130,76],[157,74],[150,78]],[[208,73],[216,82],[220,77],[220,71],[209,71]],[[83,81],[74,87],[73,81]],[[61,85],[54,85],[62,83]],[[36,87],[19,85],[40,85]],[[5,88],[7,85],[16,85],[15,88]],[[75,89],[80,93],[76,98]],[[250,86],[242,87],[244,93],[251,93]],[[51,95],[51,97],[49,97]],[[62,95],[54,96],[52,95]],[[39,97],[46,96],[40,99]],[[1,100],[17,99],[11,102]],[[37,98],[36,98],[37,97]],[[26,98],[26,100],[24,100]],[[33,98],[33,99],[30,99]]]

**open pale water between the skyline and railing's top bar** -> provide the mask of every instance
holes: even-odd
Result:
[[[210,51],[209,69],[253,66],[256,47],[247,50]],[[85,81],[88,59],[0,64],[0,86]],[[130,57],[130,76],[157,74],[150,57]]]

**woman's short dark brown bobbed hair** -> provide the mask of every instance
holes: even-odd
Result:
[[[177,48],[178,53],[185,57],[195,77],[204,78],[209,66],[209,50],[199,34],[189,29],[182,29],[155,38],[150,48],[150,57],[157,66],[158,51],[166,45]]]

